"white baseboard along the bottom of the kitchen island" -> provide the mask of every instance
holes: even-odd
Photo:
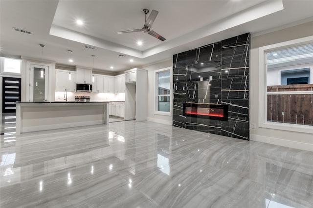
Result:
[[[71,127],[79,127],[79,126],[90,126],[90,125],[97,125],[97,124],[103,124],[103,120],[22,127],[21,133],[38,132],[38,131],[54,130],[54,129],[64,129],[64,128],[71,128]]]

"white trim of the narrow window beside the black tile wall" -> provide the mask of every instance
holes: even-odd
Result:
[[[162,71],[167,71],[170,70],[170,112],[163,112],[163,111],[157,111],[157,97],[158,97],[158,88],[156,87],[156,78],[157,78],[157,73],[162,72]],[[163,69],[158,69],[155,71],[155,77],[154,77],[154,88],[155,88],[155,94],[154,94],[154,114],[156,115],[167,115],[167,116],[172,116],[172,93],[173,93],[173,89],[172,89],[172,85],[173,85],[173,78],[172,78],[172,74],[173,74],[173,70],[172,67],[166,67]]]

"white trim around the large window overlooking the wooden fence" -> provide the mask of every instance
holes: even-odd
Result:
[[[266,66],[266,54],[268,52],[281,50],[284,48],[290,48],[300,46],[304,44],[312,44],[313,36],[294,39],[286,42],[276,43],[267,45],[259,48],[259,123],[258,126],[261,128],[292,131],[292,132],[303,132],[313,133],[313,126],[288,124],[288,123],[277,123],[269,122],[266,120],[267,117],[267,66]]]

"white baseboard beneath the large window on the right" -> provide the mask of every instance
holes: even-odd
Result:
[[[260,136],[256,134],[250,134],[251,141],[264,142],[273,145],[279,145],[283,147],[295,148],[299,150],[313,151],[313,144],[291,141],[286,139],[279,139],[268,136]]]

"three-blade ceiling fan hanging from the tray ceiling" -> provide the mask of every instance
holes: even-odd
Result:
[[[155,31],[150,30],[150,27],[152,26],[153,22],[156,19],[156,15],[158,13],[158,11],[156,10],[152,10],[151,14],[149,15],[148,19],[147,19],[147,14],[149,13],[148,9],[143,9],[143,12],[146,15],[146,22],[143,25],[143,28],[141,29],[134,29],[134,30],[125,30],[125,31],[119,31],[116,32],[117,34],[124,34],[124,33],[134,33],[134,32],[143,32],[143,33],[148,33],[149,35],[159,39],[159,40],[166,40],[164,37],[162,37],[161,35],[157,34]]]

